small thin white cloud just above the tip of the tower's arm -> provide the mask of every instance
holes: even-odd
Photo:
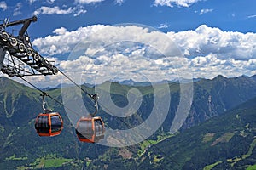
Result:
[[[73,13],[73,8],[67,8],[67,9],[61,9],[60,7],[41,7],[38,8],[33,14],[39,15],[39,14],[71,14]]]

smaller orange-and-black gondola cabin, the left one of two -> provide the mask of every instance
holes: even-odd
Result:
[[[40,113],[35,122],[39,136],[56,136],[61,133],[63,121],[61,115],[54,113]]]

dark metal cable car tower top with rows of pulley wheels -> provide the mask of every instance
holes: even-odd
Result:
[[[5,19],[0,24],[0,70],[9,77],[46,76],[58,73],[55,61],[44,59],[32,48],[26,30],[32,22],[37,20],[36,16],[12,22]],[[11,33],[7,32],[8,27],[18,25],[22,26],[17,35],[14,34],[14,30]]]

